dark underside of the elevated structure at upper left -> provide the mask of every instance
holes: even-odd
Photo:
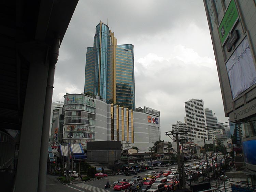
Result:
[[[30,62],[20,45],[32,42],[50,48],[57,36],[62,41],[77,2],[1,1],[0,129],[20,130],[22,125]]]

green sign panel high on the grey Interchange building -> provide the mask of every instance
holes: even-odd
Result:
[[[231,0],[228,5],[228,9],[221,21],[221,25],[219,25],[219,35],[220,35],[222,44],[224,43],[225,39],[228,36],[229,31],[232,29],[237,19],[238,19],[238,12],[236,8],[236,4],[234,3],[234,0]]]

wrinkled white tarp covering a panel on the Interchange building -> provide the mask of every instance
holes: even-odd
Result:
[[[226,64],[233,99],[256,83],[256,70],[247,37]]]

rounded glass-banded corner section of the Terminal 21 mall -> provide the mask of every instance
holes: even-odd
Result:
[[[63,142],[95,141],[96,99],[84,94],[64,95]]]

